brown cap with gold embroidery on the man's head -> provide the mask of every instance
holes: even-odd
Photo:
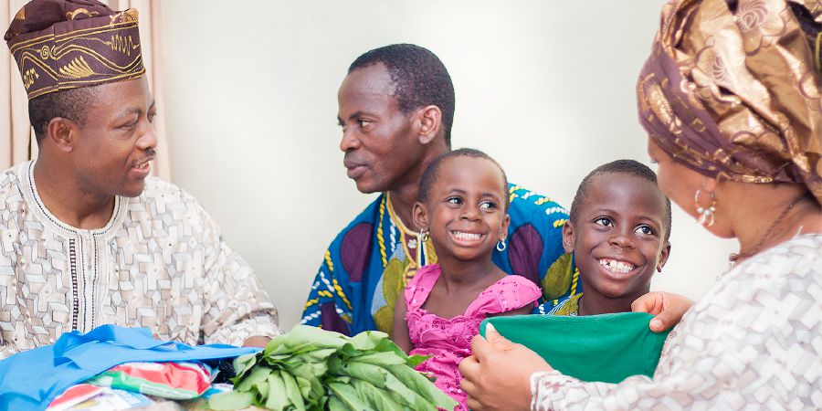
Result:
[[[115,12],[96,0],[33,0],[17,12],[4,38],[29,99],[145,73],[134,9]]]

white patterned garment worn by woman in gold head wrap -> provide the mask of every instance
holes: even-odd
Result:
[[[656,374],[620,384],[532,375],[532,408],[822,408],[822,235],[722,276],[670,333]]]

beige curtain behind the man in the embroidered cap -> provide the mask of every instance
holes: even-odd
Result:
[[[136,8],[140,12],[142,60],[148,73],[149,87],[157,104],[154,130],[159,140],[153,174],[169,180],[168,141],[165,136],[165,84],[163,74],[163,41],[161,0],[103,0],[115,10]],[[2,33],[27,0],[0,0]],[[5,47],[5,45],[4,45]],[[28,123],[28,100],[20,72],[8,48],[0,52],[0,170],[13,164],[37,158],[37,142]],[[2,132],[8,135],[3,136]]]

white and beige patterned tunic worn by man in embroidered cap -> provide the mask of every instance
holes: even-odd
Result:
[[[0,174],[0,359],[106,323],[189,344],[279,333],[254,272],[191,195],[149,177],[84,230],[48,212],[33,169]]]

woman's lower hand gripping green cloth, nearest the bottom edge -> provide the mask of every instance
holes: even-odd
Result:
[[[488,324],[487,339],[471,341],[474,354],[459,363],[462,390],[472,410],[527,410],[531,408],[531,375],[551,371],[543,357],[506,340]]]

